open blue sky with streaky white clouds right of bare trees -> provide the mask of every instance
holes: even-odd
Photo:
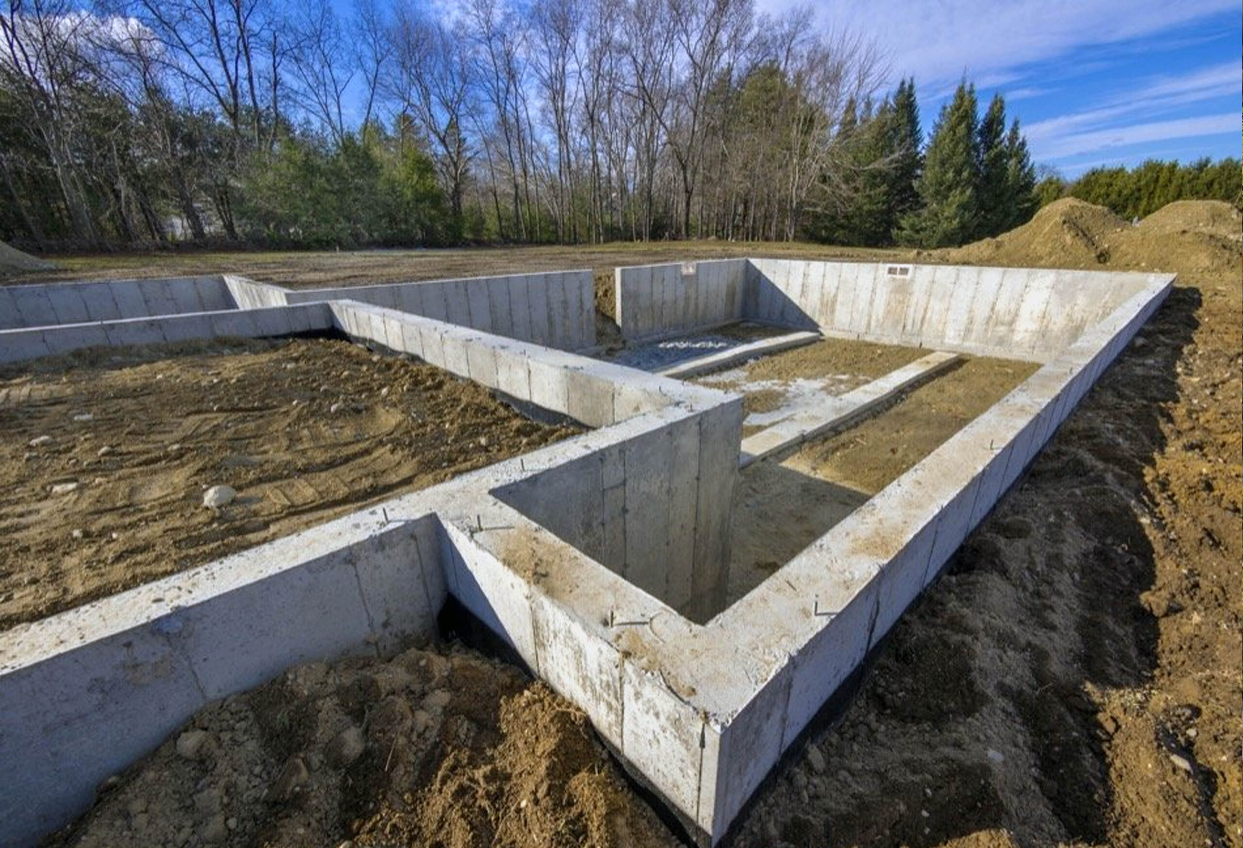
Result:
[[[756,0],[779,12],[794,0]],[[820,0],[818,26],[885,51],[915,77],[925,131],[966,75],[1001,92],[1037,164],[1074,178],[1098,165],[1241,155],[1239,0]]]

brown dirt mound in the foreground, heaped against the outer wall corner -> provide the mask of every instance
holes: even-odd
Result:
[[[109,783],[51,844],[676,844],[582,711],[457,648],[295,669]]]

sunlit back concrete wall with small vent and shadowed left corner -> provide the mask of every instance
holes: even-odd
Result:
[[[743,313],[888,344],[1048,362],[1146,274],[751,260]]]

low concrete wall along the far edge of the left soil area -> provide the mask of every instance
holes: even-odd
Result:
[[[0,363],[70,353],[86,347],[163,344],[191,339],[262,338],[334,327],[327,303],[297,307],[198,312],[155,318],[0,331]]]

